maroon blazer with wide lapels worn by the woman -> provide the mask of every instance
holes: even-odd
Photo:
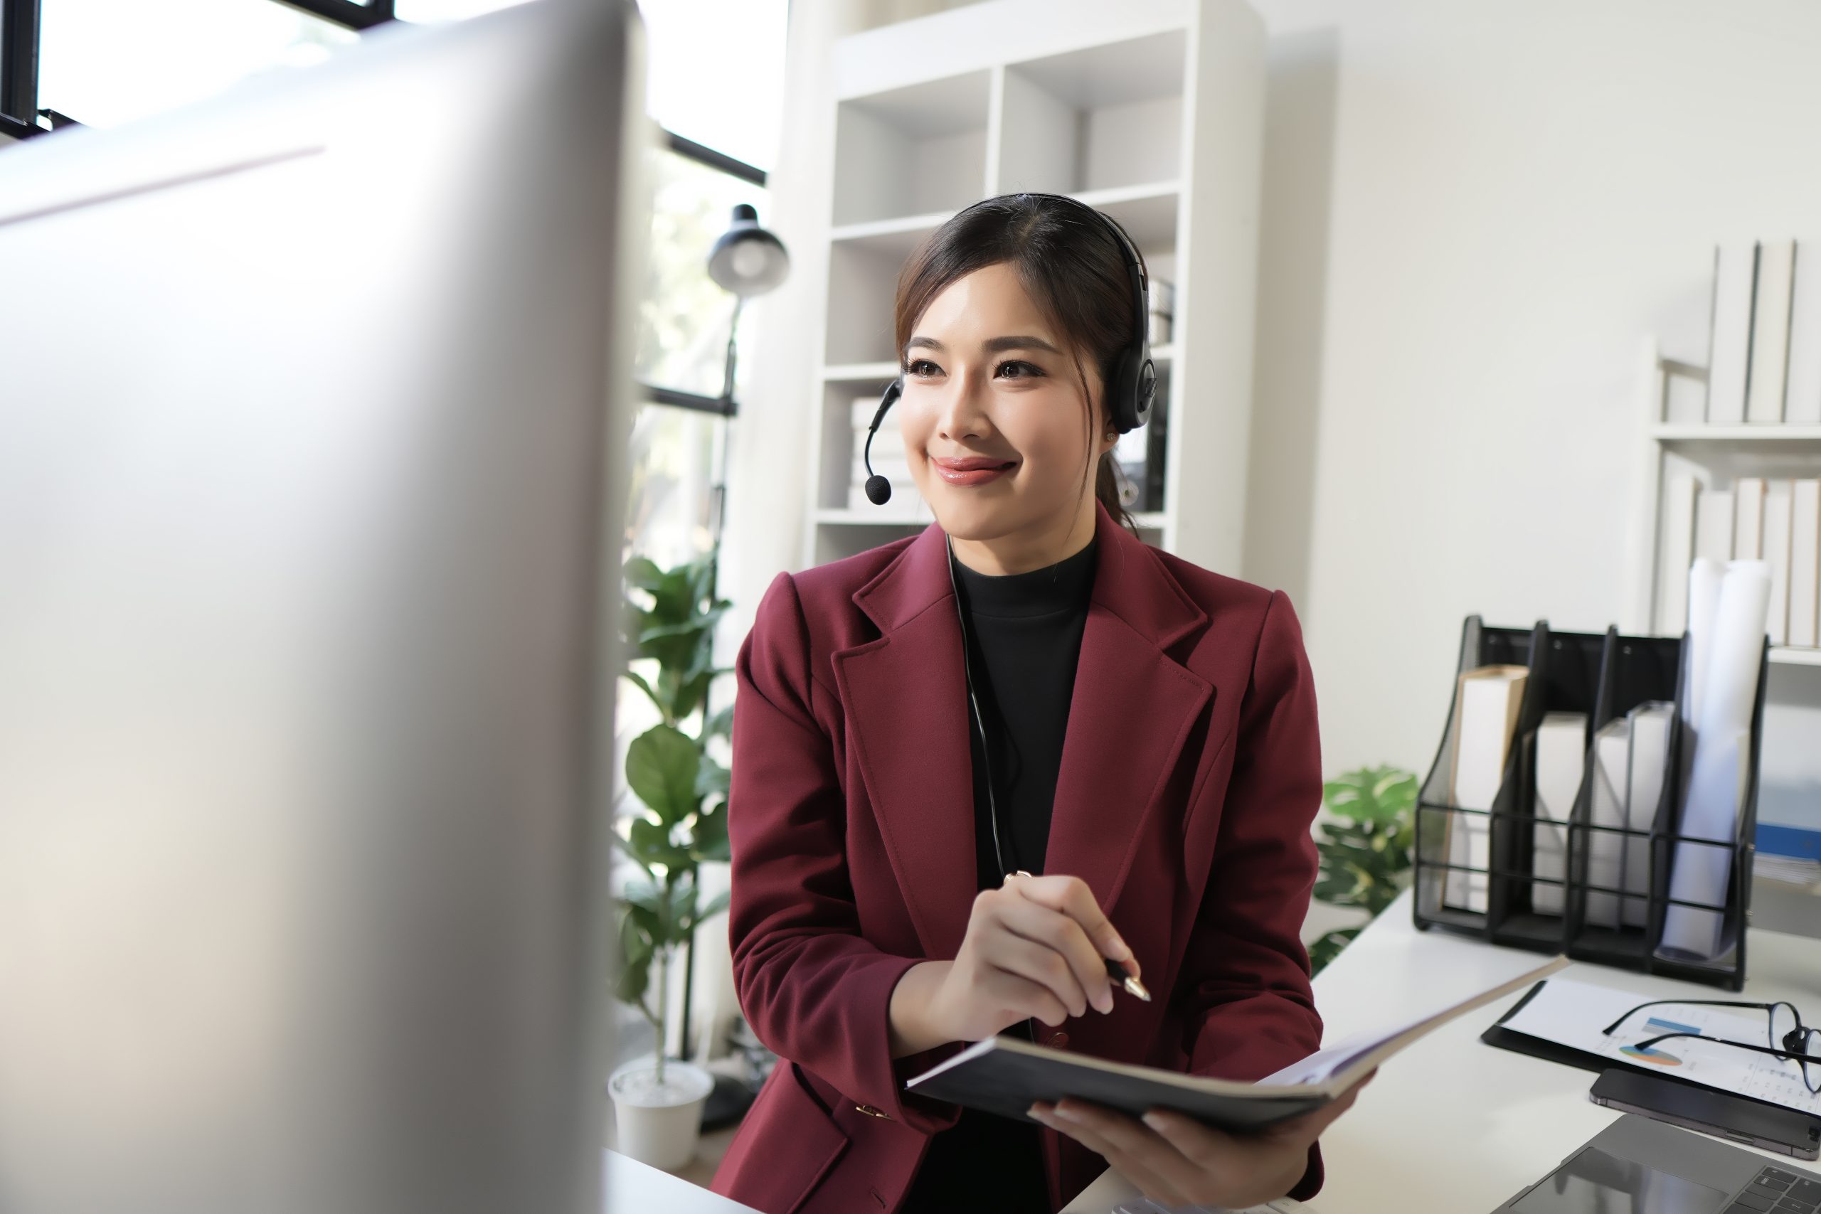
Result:
[[[1114,994],[1036,1039],[1258,1079],[1317,1048],[1298,932],[1320,804],[1315,683],[1280,592],[1140,542],[1104,506],[1045,874],[1073,874],[1153,1001]],[[714,1190],[765,1214],[894,1210],[958,1105],[900,1083],[900,976],[954,957],[976,894],[961,632],[945,533],[779,573],[736,664],[732,906],[739,1005],[778,1052]],[[1051,1209],[1105,1161],[1042,1130]],[[1322,1187],[1320,1148],[1291,1190]]]

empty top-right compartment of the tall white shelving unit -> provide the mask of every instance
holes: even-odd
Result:
[[[1187,31],[1005,67],[1002,191],[1080,193],[1175,178]]]

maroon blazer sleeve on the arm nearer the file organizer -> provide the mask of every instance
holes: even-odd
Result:
[[[1240,704],[1233,774],[1178,990],[1191,1008],[1189,1070],[1262,1079],[1322,1045],[1302,919],[1318,857],[1309,826],[1322,803],[1315,677],[1289,599],[1266,606]],[[1287,1196],[1322,1187],[1322,1152]]]

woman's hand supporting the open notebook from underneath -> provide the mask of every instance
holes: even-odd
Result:
[[[1282,1198],[1309,1167],[1309,1145],[1353,1107],[1368,1072],[1315,1112],[1256,1134],[1226,1134],[1178,1112],[1153,1108],[1144,1121],[1080,1099],[1031,1105],[1031,1116],[1098,1152],[1144,1196],[1167,1205],[1242,1210]]]

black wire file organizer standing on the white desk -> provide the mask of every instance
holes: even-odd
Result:
[[[1683,715],[1688,693],[1684,650],[1681,637],[1630,637],[1617,628],[1604,633],[1555,632],[1539,621],[1533,628],[1491,628],[1479,615],[1468,617],[1460,639],[1455,695],[1450,704],[1448,726],[1417,797],[1415,846],[1415,925],[1422,930],[1446,928],[1477,936],[1495,945],[1562,952],[1577,961],[1643,970],[1666,977],[1710,983],[1739,990],[1745,985],[1745,925],[1748,921],[1752,890],[1752,854],[1757,819],[1757,768],[1765,712],[1765,675],[1768,664],[1759,664],[1757,693],[1752,708],[1746,772],[1743,774],[1741,804],[1730,841],[1708,841],[1677,834],[1677,806],[1683,784],[1683,730],[1668,728],[1661,794],[1657,795],[1648,828],[1637,825],[1637,815],[1626,806],[1630,784],[1619,799],[1619,823],[1593,821],[1595,779],[1599,761],[1593,739],[1602,726],[1621,721],[1633,708],[1650,703],[1673,703],[1675,721]],[[1768,648],[1768,646],[1766,646]],[[1460,743],[1460,683],[1459,675],[1480,666],[1511,664],[1528,670],[1522,701],[1506,739],[1506,763],[1491,808],[1473,810],[1453,801],[1455,748]],[[1553,823],[1537,812],[1535,741],[1537,728],[1551,712],[1573,712],[1586,717],[1582,735],[1586,761],[1573,806],[1561,825],[1564,834],[1564,863],[1561,877],[1537,874],[1535,839],[1539,828]],[[1488,834],[1486,863],[1459,863],[1460,852],[1451,846],[1455,832],[1484,830]],[[1728,883],[1723,903],[1697,903],[1670,897],[1670,877],[1679,845],[1724,850]],[[1648,855],[1643,883],[1597,881],[1590,874],[1592,855],[1606,848],[1610,855]],[[1621,874],[1624,868],[1621,866]],[[1451,874],[1468,881],[1484,881],[1484,905],[1457,905],[1450,895]],[[1460,877],[1455,877],[1459,881]],[[1561,914],[1537,908],[1539,886],[1561,890],[1551,897]],[[1643,905],[1639,916],[1613,914],[1610,921],[1590,916],[1590,897],[1604,897],[1612,906]],[[1714,910],[1719,914],[1724,948],[1706,961],[1672,961],[1657,956],[1663,943],[1664,917],[1670,905]]]

